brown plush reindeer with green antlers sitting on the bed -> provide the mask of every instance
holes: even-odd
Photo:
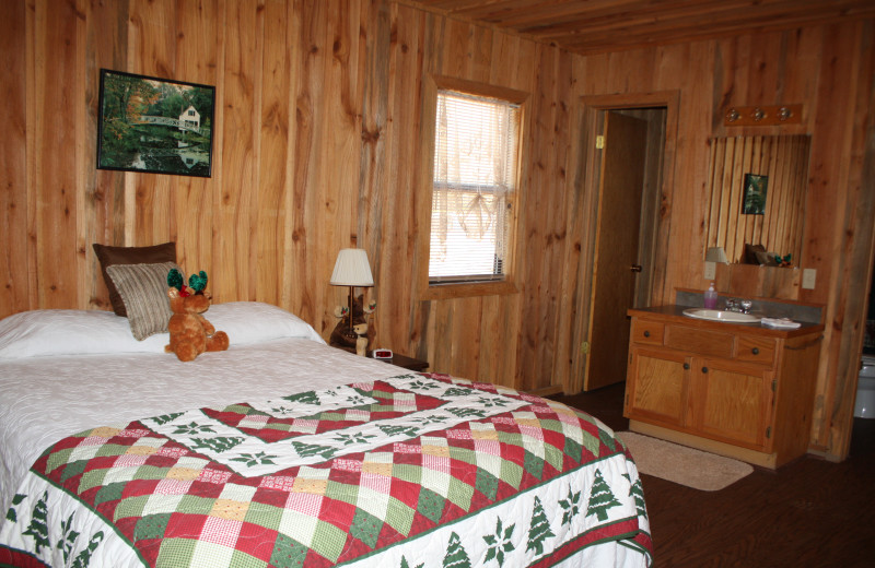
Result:
[[[206,351],[225,351],[229,345],[228,333],[215,331],[207,318],[201,316],[210,307],[210,294],[205,293],[207,273],[191,274],[191,287],[186,286],[182,273],[173,269],[167,274],[167,298],[171,316],[167,331],[171,342],[164,346],[167,353],[175,353],[179,360],[194,360]]]

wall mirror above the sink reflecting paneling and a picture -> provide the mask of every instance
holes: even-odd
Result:
[[[809,147],[804,134],[712,140],[704,250],[722,247],[730,262],[773,263],[773,256],[757,259],[751,247],[746,255],[745,245],[761,246],[782,258],[790,255],[797,267]]]

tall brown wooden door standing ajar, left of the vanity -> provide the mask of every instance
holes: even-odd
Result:
[[[646,141],[646,121],[606,113],[583,390],[626,380]]]

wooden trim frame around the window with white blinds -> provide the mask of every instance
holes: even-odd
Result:
[[[434,180],[434,121],[438,113],[438,92],[457,91],[460,93],[500,98],[520,105],[520,143],[517,144],[516,156],[516,194],[514,196],[514,206],[511,210],[509,220],[509,251],[505,260],[504,279],[498,281],[476,281],[476,282],[429,282],[429,258],[431,249],[431,206],[433,198]],[[420,175],[417,180],[418,199],[417,216],[421,230],[418,235],[419,259],[417,263],[417,283],[421,299],[443,299],[459,298],[469,296],[490,296],[515,294],[520,292],[517,286],[516,260],[520,258],[521,239],[520,235],[520,212],[522,198],[525,194],[525,177],[523,167],[523,147],[528,131],[528,100],[529,94],[487,83],[477,83],[464,79],[428,75],[423,81],[422,98],[422,122],[420,128],[419,164]]]

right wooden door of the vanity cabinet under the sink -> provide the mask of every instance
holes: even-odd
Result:
[[[692,362],[690,424],[712,439],[769,451],[774,374],[720,359]]]

